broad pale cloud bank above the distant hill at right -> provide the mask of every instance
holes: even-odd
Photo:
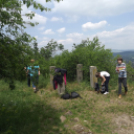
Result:
[[[97,33],[100,41],[111,49],[133,49],[134,50],[134,24],[116,29]]]

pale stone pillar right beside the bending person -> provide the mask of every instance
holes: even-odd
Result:
[[[95,83],[98,82],[98,80],[97,80],[97,78],[95,76],[96,72],[97,72],[97,67],[90,66],[90,85],[91,85],[92,88],[94,88]]]

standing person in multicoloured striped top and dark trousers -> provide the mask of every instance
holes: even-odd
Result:
[[[123,84],[123,86],[125,88],[125,95],[128,92],[128,89],[127,89],[127,71],[126,71],[126,64],[123,63],[122,58],[118,58],[117,63],[118,64],[116,65],[116,72],[118,73],[118,83],[119,83],[118,95],[119,95],[119,98],[121,98],[122,97],[121,84]]]

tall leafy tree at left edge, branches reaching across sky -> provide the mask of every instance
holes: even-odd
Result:
[[[46,0],[49,2],[51,0]],[[57,0],[60,1],[60,0]],[[35,38],[28,35],[24,30],[26,24],[35,26],[38,23],[25,22],[21,15],[21,5],[29,8],[33,6],[40,11],[50,11],[35,0],[0,0],[0,72],[1,77],[14,79],[20,70],[27,64],[29,54],[32,53],[31,44]],[[23,16],[32,20],[34,12]],[[27,59],[27,61],[25,60]],[[20,70],[19,70],[20,69]]]

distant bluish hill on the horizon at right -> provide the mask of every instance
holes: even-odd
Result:
[[[120,55],[126,62],[134,62],[134,51],[113,52],[114,56]]]

